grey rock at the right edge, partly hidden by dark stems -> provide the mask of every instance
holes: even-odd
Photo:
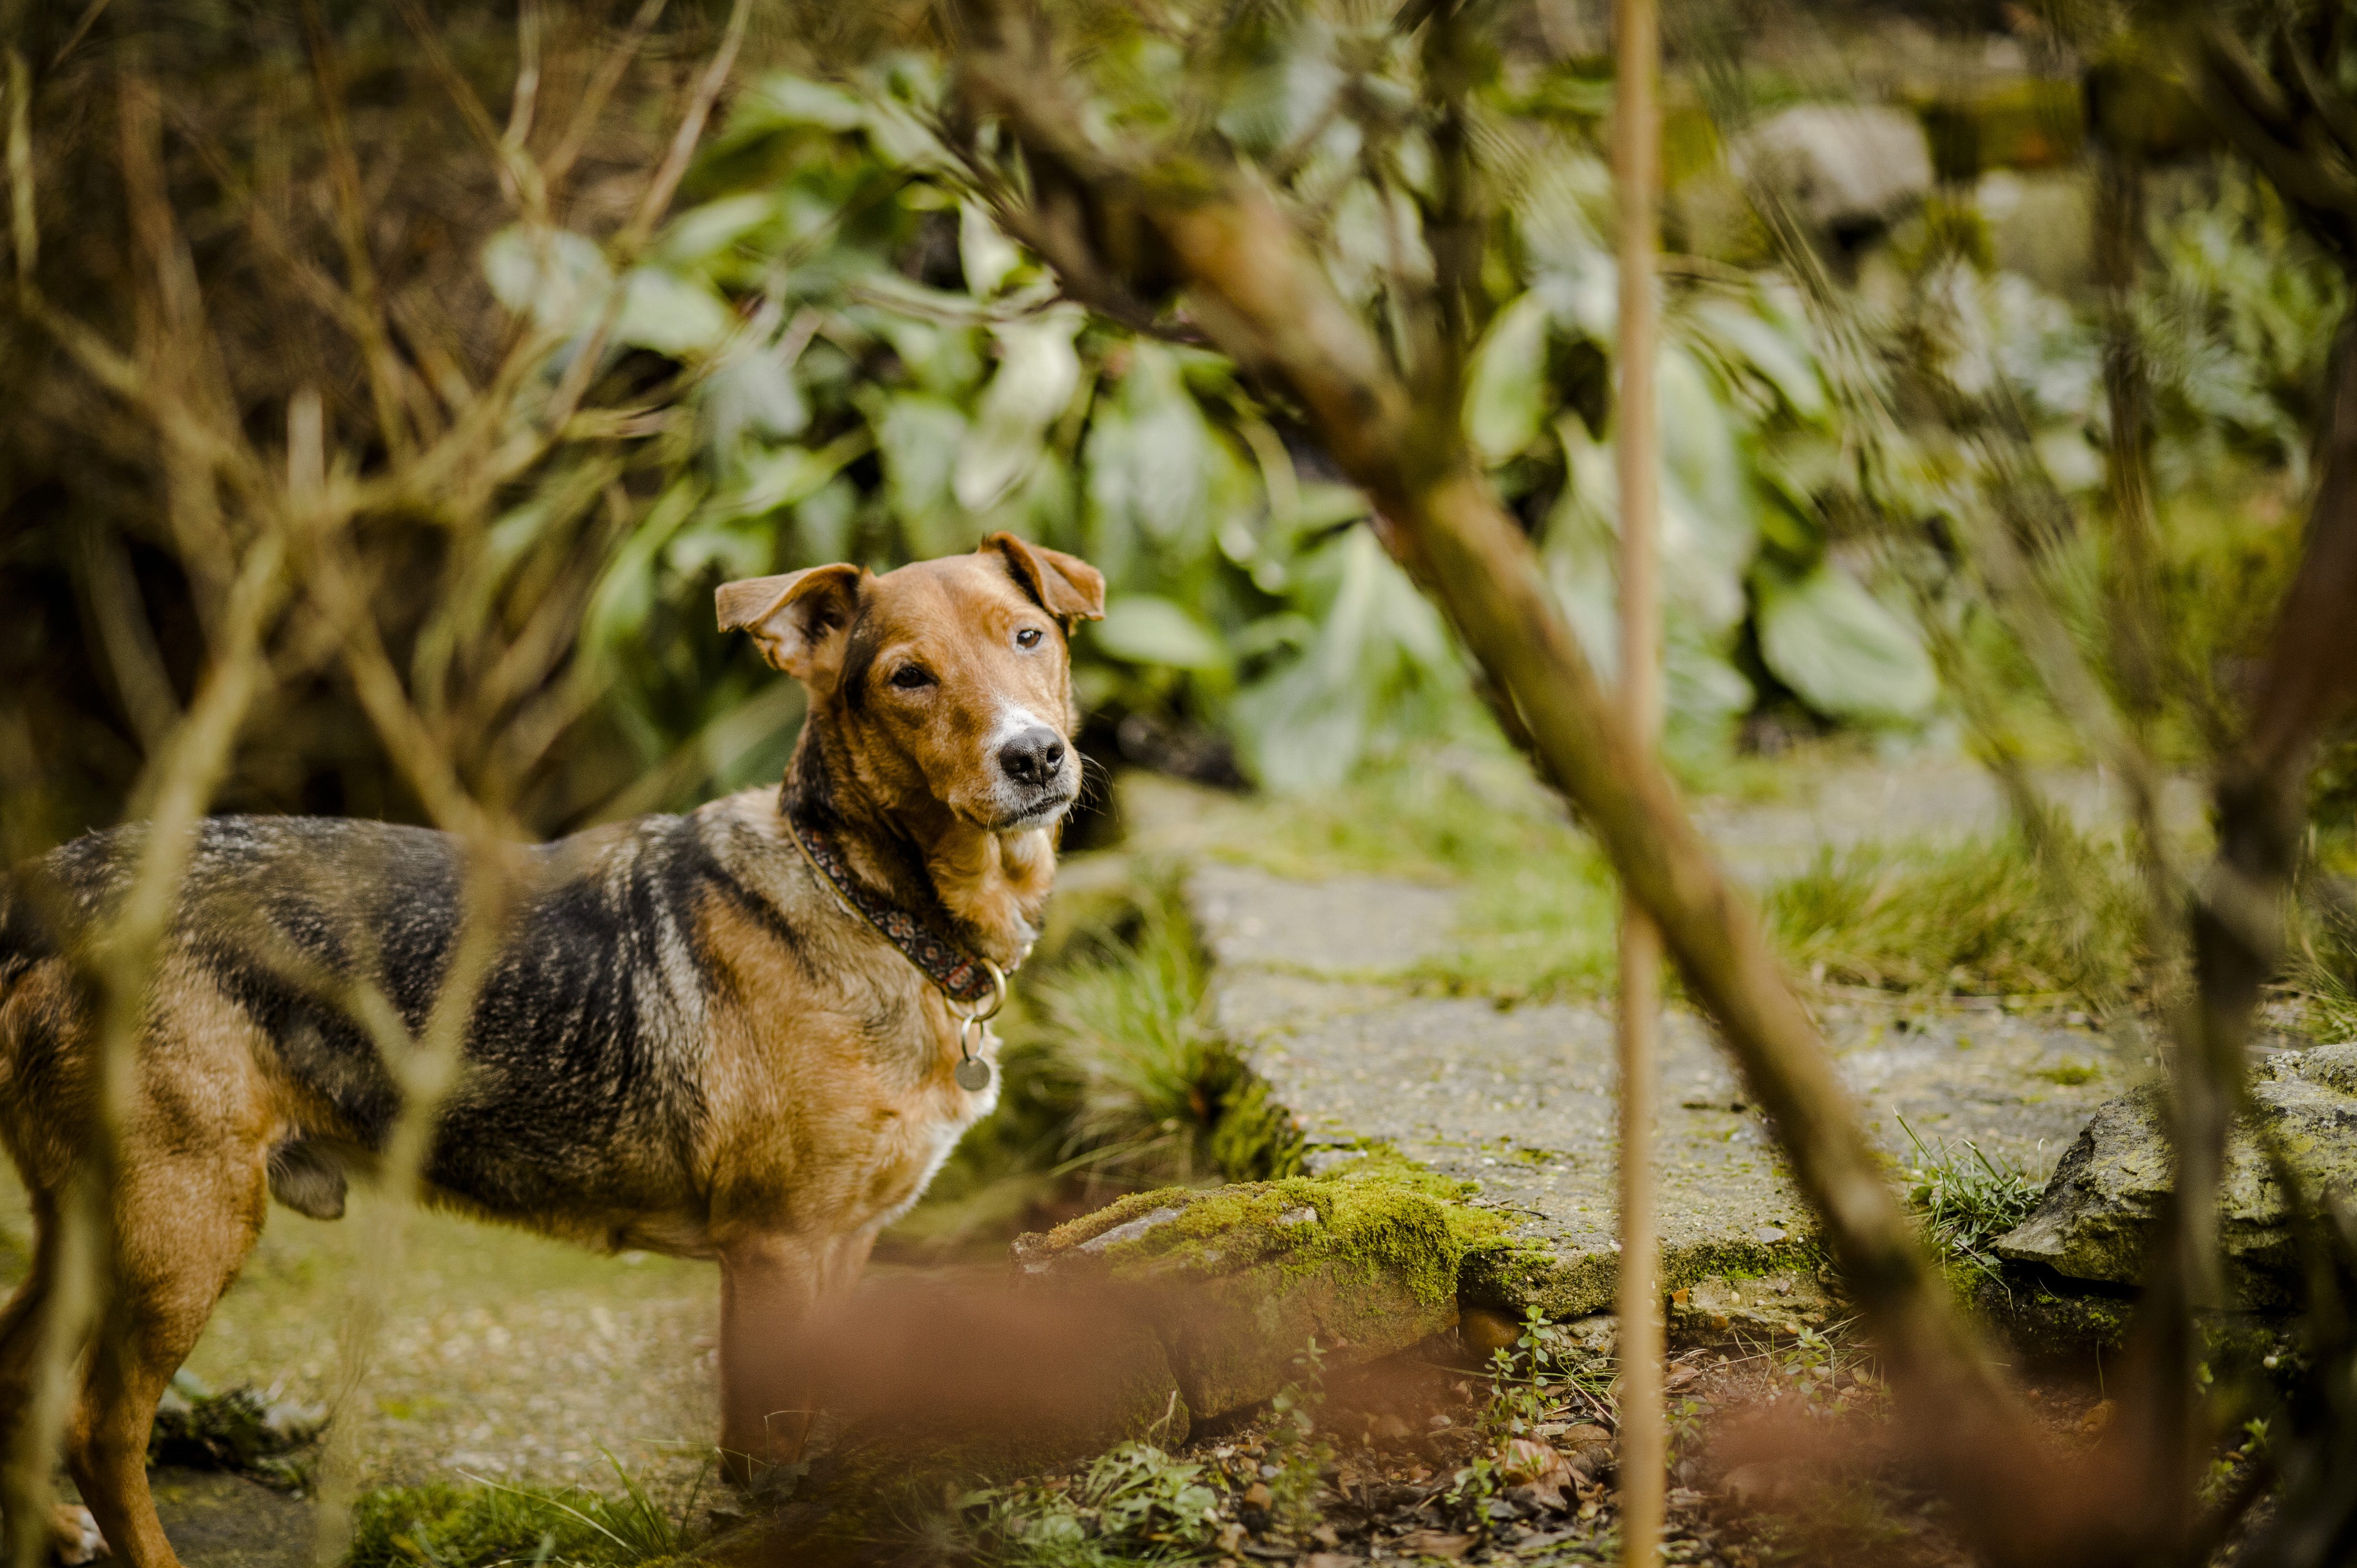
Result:
[[[2253,1064],[2253,1116],[2315,1201],[2357,1184],[2357,1045],[2286,1050]],[[2105,1102],[2055,1165],[2046,1196],[1994,1250],[2084,1281],[2143,1281],[2145,1245],[2176,1180],[2159,1085]],[[2291,1300],[2298,1243],[2284,1191],[2246,1128],[2227,1144],[2218,1245],[2244,1307]]]

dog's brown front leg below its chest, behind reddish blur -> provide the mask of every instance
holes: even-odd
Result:
[[[858,1281],[874,1234],[750,1236],[721,1250],[721,1469],[750,1486],[792,1464],[818,1415],[806,1328]]]

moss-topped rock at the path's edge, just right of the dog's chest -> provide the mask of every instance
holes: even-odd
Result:
[[[1195,1420],[1301,1377],[1315,1340],[1341,1370],[1457,1321],[1457,1269],[1499,1227],[1454,1210],[1398,1161],[1336,1177],[1122,1198],[1014,1243],[1028,1285],[1110,1288],[1153,1326]]]

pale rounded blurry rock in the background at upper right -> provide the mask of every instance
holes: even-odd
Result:
[[[1902,108],[1798,104],[1737,139],[1732,162],[1815,228],[1881,228],[1933,188],[1930,141]]]

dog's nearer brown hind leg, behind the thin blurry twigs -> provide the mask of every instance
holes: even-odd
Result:
[[[90,1351],[66,1464],[115,1556],[132,1568],[177,1563],[148,1497],[148,1431],[156,1401],[262,1234],[264,1158],[259,1142],[224,1137],[125,1161],[113,1295]]]

